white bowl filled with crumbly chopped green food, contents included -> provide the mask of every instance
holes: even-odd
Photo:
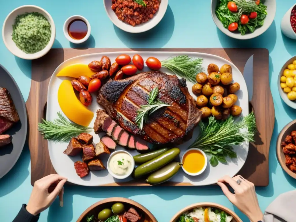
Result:
[[[38,59],[51,48],[55,39],[54,21],[44,9],[24,5],[4,20],[2,38],[7,49],[22,59]]]

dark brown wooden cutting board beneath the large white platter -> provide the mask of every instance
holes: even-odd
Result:
[[[269,53],[267,49],[51,49],[44,57],[32,61],[32,82],[26,107],[29,119],[29,149],[31,154],[31,184],[46,175],[55,173],[49,158],[47,141],[37,130],[38,122],[45,118],[47,89],[54,70],[65,60],[75,56],[98,52],[161,51],[161,52],[202,52],[221,56],[234,63],[243,73],[250,56],[253,62],[252,107],[256,115],[258,134],[255,143],[250,144],[249,154],[239,172],[255,186],[268,186],[268,153],[274,129],[274,103],[269,87]],[[268,115],[266,115],[268,113]],[[222,174],[221,174],[222,176]],[[107,186],[141,186],[142,181],[113,183]],[[190,183],[167,183],[169,186],[191,186]]]

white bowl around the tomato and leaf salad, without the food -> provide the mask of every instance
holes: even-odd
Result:
[[[223,32],[225,35],[231,37],[231,38],[236,38],[236,39],[251,39],[255,38],[257,36],[260,36],[262,33],[264,33],[272,24],[274,21],[274,17],[276,15],[276,0],[267,0],[264,2],[264,4],[267,6],[267,15],[264,19],[264,24],[263,26],[256,28],[253,33],[246,33],[244,36],[241,35],[239,32],[231,32],[227,28],[224,28],[222,22],[218,19],[215,10],[217,8],[219,0],[211,0],[211,13],[212,13],[212,18],[217,25],[217,27]]]

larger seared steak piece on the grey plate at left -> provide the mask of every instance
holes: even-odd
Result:
[[[8,90],[0,86],[0,134],[19,120],[20,118]]]

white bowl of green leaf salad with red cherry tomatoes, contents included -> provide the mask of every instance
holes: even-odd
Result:
[[[264,33],[274,21],[276,0],[211,0],[212,17],[227,36],[251,39]]]

